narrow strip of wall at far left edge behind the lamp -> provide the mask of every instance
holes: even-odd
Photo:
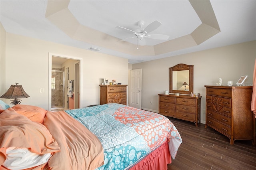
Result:
[[[2,23],[0,23],[0,95],[3,95],[5,93],[5,42],[6,31],[2,26]],[[5,99],[1,100],[5,101]]]

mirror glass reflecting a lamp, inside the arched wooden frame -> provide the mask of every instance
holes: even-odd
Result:
[[[172,90],[189,91],[189,70],[172,71]]]

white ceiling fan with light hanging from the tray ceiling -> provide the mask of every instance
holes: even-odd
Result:
[[[140,28],[138,28],[134,31],[130,30],[128,28],[117,26],[116,28],[120,28],[120,29],[125,30],[127,32],[134,33],[134,36],[129,37],[129,38],[125,38],[125,39],[120,40],[120,41],[125,41],[125,40],[128,40],[130,38],[137,38],[137,45],[138,44],[145,45],[146,44],[146,41],[144,39],[145,37],[156,39],[156,40],[168,40],[168,38],[170,37],[170,36],[162,35],[162,34],[148,34],[152,31],[156,30],[156,28],[158,28],[159,26],[161,26],[162,25],[161,22],[156,20],[156,21],[150,23],[148,26],[146,26],[146,28],[142,28],[142,26],[144,26],[144,23],[145,22],[143,20],[138,21],[137,24]],[[138,49],[138,46],[137,46],[137,49]]]

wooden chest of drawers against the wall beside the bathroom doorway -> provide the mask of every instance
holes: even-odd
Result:
[[[127,85],[100,85],[100,105],[120,103],[126,105]]]

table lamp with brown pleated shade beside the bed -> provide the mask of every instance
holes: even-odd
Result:
[[[18,83],[16,83],[16,85],[11,85],[10,88],[6,91],[6,93],[4,93],[0,98],[4,98],[4,99],[14,99],[14,100],[10,100],[12,101],[11,104],[12,105],[17,105],[20,104],[20,99],[17,98],[28,98],[30,97],[23,89],[22,85],[18,85]]]

